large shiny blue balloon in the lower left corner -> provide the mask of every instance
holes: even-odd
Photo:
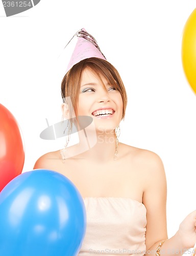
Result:
[[[78,255],[85,231],[84,201],[62,174],[32,170],[0,193],[0,255]]]

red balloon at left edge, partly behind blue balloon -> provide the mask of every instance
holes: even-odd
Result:
[[[12,113],[0,104],[0,191],[24,165],[24,147],[20,129]]]

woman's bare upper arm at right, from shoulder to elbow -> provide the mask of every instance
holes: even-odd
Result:
[[[167,185],[163,163],[160,157],[149,151],[143,153],[144,192],[146,207],[145,245],[148,251],[153,245],[167,239],[166,195]]]

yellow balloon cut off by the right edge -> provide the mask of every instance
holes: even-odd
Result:
[[[188,83],[196,94],[196,9],[190,14],[184,27],[182,65]]]

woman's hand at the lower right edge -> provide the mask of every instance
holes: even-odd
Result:
[[[180,223],[177,234],[184,248],[194,247],[196,243],[196,210],[187,215]]]

